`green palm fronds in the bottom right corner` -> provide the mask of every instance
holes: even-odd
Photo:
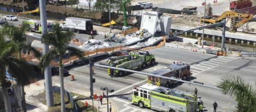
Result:
[[[221,80],[217,87],[223,89],[223,94],[236,99],[236,111],[256,111],[256,90],[249,83],[245,83],[239,76],[226,76]]]

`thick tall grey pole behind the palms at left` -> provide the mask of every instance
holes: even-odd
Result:
[[[42,27],[42,35],[47,34],[47,19],[46,19],[46,10],[45,10],[45,0],[39,0],[40,6],[40,19]],[[43,44],[43,54],[49,51],[49,45]],[[52,83],[52,73],[50,66],[46,67],[44,70],[44,80],[45,80],[45,90],[46,90],[46,105],[54,105],[53,97],[53,83]]]

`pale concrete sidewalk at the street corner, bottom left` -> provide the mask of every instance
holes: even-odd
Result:
[[[59,86],[60,83],[58,82],[53,82],[53,86]],[[33,96],[38,95],[39,93],[42,93],[44,91],[44,83],[43,80],[39,80],[35,83],[31,83],[29,86],[25,86],[24,90],[26,92],[26,103],[27,103],[27,111],[47,111],[47,106],[40,103],[39,101],[35,100],[33,98]],[[73,92],[76,94],[80,94],[80,95],[84,95],[84,96],[90,96],[90,92],[89,91],[84,91],[84,90],[79,90],[77,88],[72,88],[72,87],[67,87],[65,85],[65,90],[67,90],[68,92]],[[102,92],[102,91],[101,91]],[[97,95],[100,95],[102,93],[94,93]],[[85,102],[85,100],[81,100],[82,102]],[[92,105],[92,100],[87,100],[88,104]],[[112,111],[118,111],[118,108],[116,106],[116,104],[111,101],[111,98],[109,98],[109,102],[111,102],[111,106],[112,106]],[[99,105],[98,105],[99,104]],[[99,107],[99,111],[107,111],[107,98],[104,97],[103,98],[103,105],[100,105],[100,102],[98,103],[98,101],[94,101],[94,108],[98,108]]]

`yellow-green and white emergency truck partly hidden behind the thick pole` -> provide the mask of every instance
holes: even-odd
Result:
[[[30,25],[30,32],[38,32],[41,33],[41,22],[38,20],[25,20],[24,23],[28,23]],[[53,23],[47,22],[47,30],[50,32],[53,29]]]

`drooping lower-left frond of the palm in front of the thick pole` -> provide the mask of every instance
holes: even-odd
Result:
[[[50,62],[57,57],[58,53],[59,52],[57,51],[56,48],[52,48],[48,52],[46,52],[40,58],[39,65],[38,65],[39,68],[41,68],[42,71],[44,71],[44,69],[49,66]]]

